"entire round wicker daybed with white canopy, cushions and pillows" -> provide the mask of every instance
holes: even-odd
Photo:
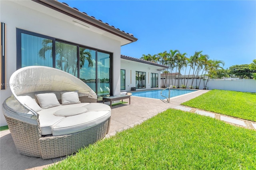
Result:
[[[12,96],[2,111],[21,154],[43,159],[66,156],[108,133],[110,107],[96,103],[96,93],[69,73],[24,67],[12,74],[9,85]]]

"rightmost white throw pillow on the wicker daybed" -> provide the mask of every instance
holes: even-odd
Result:
[[[60,94],[62,105],[81,103],[79,101],[78,93],[75,91],[62,91]]]

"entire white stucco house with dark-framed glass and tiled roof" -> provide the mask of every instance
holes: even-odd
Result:
[[[0,110],[11,95],[10,76],[30,65],[62,69],[88,84],[98,97],[118,95],[131,87],[149,89],[151,76],[156,74],[158,81],[154,77],[153,86],[160,86],[159,70],[164,66],[120,54],[122,45],[136,42],[137,38],[66,3],[1,0],[0,20]],[[125,72],[122,82],[120,70]],[[0,126],[4,125],[1,113]]]

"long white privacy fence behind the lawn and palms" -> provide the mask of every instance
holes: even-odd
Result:
[[[194,79],[193,86],[194,88],[196,86],[199,86],[199,89],[203,89],[206,82],[207,80],[201,79],[200,82],[200,79]],[[161,86],[162,83],[163,81],[161,79]],[[188,89],[189,86],[191,86],[192,79],[185,79],[185,85],[186,83],[186,88]],[[170,85],[175,85],[176,87],[178,87],[178,79],[176,79],[176,82],[175,79],[170,79]],[[180,85],[184,85],[184,79],[180,80]],[[169,79],[166,80],[165,86],[169,86]],[[254,79],[209,79],[206,86],[208,87],[209,90],[220,89],[256,93],[256,80]]]

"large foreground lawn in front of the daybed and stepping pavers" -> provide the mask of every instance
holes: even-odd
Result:
[[[48,169],[256,169],[255,141],[255,130],[168,109]]]

